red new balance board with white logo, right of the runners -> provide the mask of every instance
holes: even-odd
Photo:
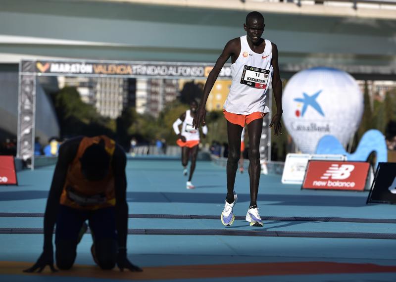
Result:
[[[301,188],[363,191],[369,168],[366,162],[311,160]]]

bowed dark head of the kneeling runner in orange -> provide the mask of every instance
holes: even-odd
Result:
[[[80,158],[81,172],[89,181],[104,179],[109,171],[110,156],[103,144],[92,144]]]

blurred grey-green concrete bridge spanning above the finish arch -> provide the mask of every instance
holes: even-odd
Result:
[[[247,10],[239,0],[227,1],[228,7],[216,0],[206,6],[192,0],[143,2],[0,0],[0,62],[43,57],[215,62],[228,40],[245,34]],[[384,19],[379,9],[376,18],[266,7],[269,2],[254,4],[265,17],[263,37],[278,46],[284,74],[324,65],[368,79],[395,79],[396,16]]]

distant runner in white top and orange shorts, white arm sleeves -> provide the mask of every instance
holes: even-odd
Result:
[[[187,189],[194,189],[195,186],[191,183],[193,178],[195,164],[197,162],[198,145],[199,145],[199,130],[193,128],[193,118],[197,112],[198,103],[193,100],[190,103],[190,109],[183,113],[174,123],[173,130],[179,136],[176,143],[182,147],[182,165],[184,167],[183,174],[187,175],[187,164],[191,154],[190,176],[186,183]],[[179,125],[182,124],[182,132],[180,132]],[[202,127],[203,138],[207,134],[207,126]]]

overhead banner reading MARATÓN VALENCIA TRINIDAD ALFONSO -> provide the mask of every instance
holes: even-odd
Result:
[[[22,61],[22,72],[39,75],[129,76],[206,78],[213,64],[176,62],[102,62],[102,61]],[[230,79],[231,67],[226,64],[219,78]]]

